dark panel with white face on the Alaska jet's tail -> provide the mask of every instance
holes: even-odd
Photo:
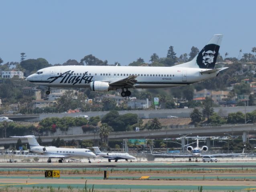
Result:
[[[206,45],[197,56],[199,68],[213,69],[217,60],[219,46],[215,44]]]

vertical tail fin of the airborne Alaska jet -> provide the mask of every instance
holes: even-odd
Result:
[[[221,44],[223,35],[213,35],[211,40],[204,46],[204,48],[193,58],[193,60],[175,65],[173,67],[189,67],[214,69],[215,62],[219,53],[219,46]]]

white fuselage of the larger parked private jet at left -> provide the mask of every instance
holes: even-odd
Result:
[[[95,154],[88,149],[74,149],[74,148],[58,148],[58,147],[45,147],[45,152],[41,151],[42,146],[34,146],[30,149],[32,152],[40,153],[45,156],[64,156],[65,158],[93,158]]]

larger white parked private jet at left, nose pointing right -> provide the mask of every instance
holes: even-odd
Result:
[[[59,147],[44,147],[39,145],[34,135],[26,136],[11,136],[14,138],[27,138],[28,144],[30,146],[30,151],[34,153],[39,153],[42,155],[33,155],[33,157],[49,157],[48,163],[51,163],[51,158],[59,158],[59,163],[62,163],[65,158],[88,158],[89,163],[91,163],[90,158],[95,157],[95,154],[89,149],[75,149],[75,148],[59,148]],[[25,155],[29,156],[29,155]],[[31,155],[32,156],[32,155]]]

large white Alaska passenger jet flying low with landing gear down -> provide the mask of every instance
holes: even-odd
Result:
[[[214,69],[222,35],[214,35],[193,60],[171,67],[142,66],[53,66],[38,70],[26,78],[37,85],[82,87],[105,92],[121,89],[130,96],[130,88],[169,88],[213,78],[224,68]]]

